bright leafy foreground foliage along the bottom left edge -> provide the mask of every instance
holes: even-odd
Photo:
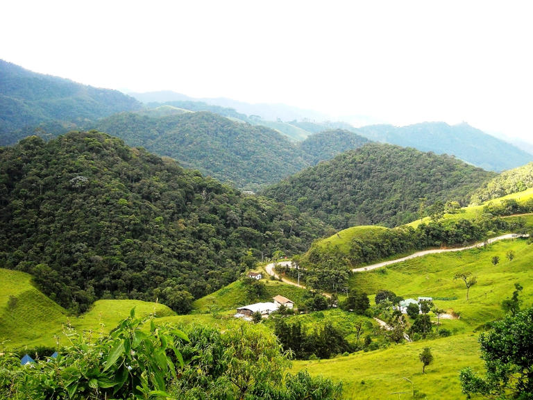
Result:
[[[341,399],[341,385],[307,372],[286,374],[290,362],[262,326],[221,332],[193,326],[178,331],[124,320],[96,341],[70,333],[59,356],[21,366],[0,356],[3,399]]]

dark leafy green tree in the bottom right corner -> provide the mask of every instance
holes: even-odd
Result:
[[[459,374],[462,389],[470,397],[489,399],[533,398],[533,308],[507,314],[481,333],[480,348],[487,373],[475,374],[470,367]]]

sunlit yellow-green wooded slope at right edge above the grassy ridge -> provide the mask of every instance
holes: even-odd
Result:
[[[522,192],[528,188],[533,188],[533,163],[502,172],[478,188],[470,201],[473,204],[481,204],[483,201]]]

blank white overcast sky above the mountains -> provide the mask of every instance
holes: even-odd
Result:
[[[24,1],[0,58],[130,92],[285,103],[533,143],[530,1]],[[350,117],[352,116],[352,117]]]

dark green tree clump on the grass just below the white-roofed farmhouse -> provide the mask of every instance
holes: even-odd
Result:
[[[285,318],[278,318],[274,333],[283,349],[294,352],[298,360],[307,360],[310,357],[330,358],[355,351],[355,347],[346,340],[344,332],[331,322],[314,326],[312,330],[307,331],[299,321],[287,324]]]

